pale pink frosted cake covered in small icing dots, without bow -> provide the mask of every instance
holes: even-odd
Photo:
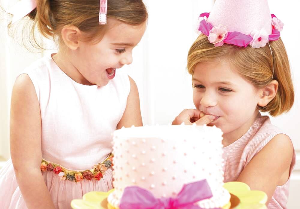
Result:
[[[143,193],[151,193],[158,200],[176,199],[183,196],[184,185],[207,181],[211,196],[194,204],[200,208],[224,208],[230,194],[223,188],[222,134],[215,126],[190,125],[131,127],[115,131],[115,191],[107,199],[109,205],[119,208],[130,196],[128,188],[134,189],[131,193],[135,194],[141,188]],[[129,193],[124,195],[124,192]],[[135,198],[141,199],[137,196],[127,199]]]

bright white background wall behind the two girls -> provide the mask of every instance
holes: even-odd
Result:
[[[1,0],[13,5],[17,0]],[[144,0],[149,10],[149,23],[140,44],[134,49],[134,61],[124,70],[137,83],[144,124],[168,124],[185,108],[193,108],[191,77],[186,71],[187,52],[196,39],[193,24],[202,12],[209,12],[213,0]],[[290,184],[289,208],[299,208],[300,190],[300,117],[298,66],[298,36],[300,29],[296,15],[296,1],[268,1],[271,13],[285,23],[282,39],[289,55],[295,85],[295,103],[292,110],[272,122],[292,138],[298,161]],[[237,8],[238,9],[238,8]],[[2,18],[1,18],[2,17]],[[0,22],[0,156],[9,158],[9,107],[15,77],[43,54],[32,54],[7,36],[6,21]],[[48,43],[49,44],[49,43]],[[46,51],[44,53],[50,53]]]

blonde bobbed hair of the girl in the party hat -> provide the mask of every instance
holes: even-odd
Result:
[[[269,112],[270,115],[277,116],[291,109],[294,103],[294,89],[289,60],[281,38],[277,41],[270,41],[269,44],[273,57],[268,45],[258,49],[229,44],[214,47],[207,40],[207,36],[201,34],[188,52],[187,70],[193,75],[194,68],[199,62],[228,60],[241,77],[258,89],[267,86],[272,79],[277,80],[279,86],[274,99],[265,107],[258,106],[261,112]]]

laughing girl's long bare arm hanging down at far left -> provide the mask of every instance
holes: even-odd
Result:
[[[29,209],[55,208],[41,174],[41,113],[29,76],[13,86],[10,108],[10,154],[16,180]]]

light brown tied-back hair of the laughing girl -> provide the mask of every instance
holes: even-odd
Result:
[[[36,9],[28,14],[33,20],[30,31],[33,46],[42,48],[35,39],[36,26],[48,38],[59,37],[63,26],[74,25],[86,34],[87,42],[99,42],[109,27],[109,20],[107,25],[99,25],[99,0],[36,0],[36,3]],[[142,0],[108,0],[107,18],[140,25],[148,19],[148,12]]]

